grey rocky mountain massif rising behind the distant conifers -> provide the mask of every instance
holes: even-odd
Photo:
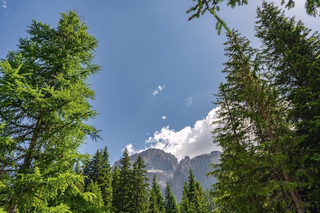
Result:
[[[210,188],[210,186],[217,182],[213,177],[207,177],[205,174],[212,171],[210,163],[219,163],[221,152],[213,151],[210,154],[203,154],[190,158],[186,156],[178,162],[177,158],[159,149],[148,149],[139,154],[131,155],[131,164],[136,158],[141,155],[143,157],[146,170],[148,171],[148,178],[151,184],[152,176],[155,174],[161,190],[164,194],[165,186],[169,181],[172,193],[175,195],[177,202],[181,200],[182,188],[184,182],[188,181],[190,168],[194,177],[199,181],[203,189]],[[113,168],[118,165],[121,166],[120,160],[113,164]]]

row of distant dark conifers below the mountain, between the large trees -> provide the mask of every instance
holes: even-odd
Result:
[[[145,212],[145,213],[207,213],[210,209],[210,196],[205,196],[192,170],[189,180],[183,188],[182,201],[177,204],[172,194],[169,181],[164,196],[161,193],[156,176],[153,175],[151,186],[148,183],[147,171],[143,158],[139,155],[133,164],[124,150],[120,167],[111,171],[108,152],[105,147],[80,169],[76,169],[83,178],[83,192],[93,193],[92,203],[106,212]],[[181,189],[182,190],[182,189]],[[102,212],[102,211],[97,211]]]

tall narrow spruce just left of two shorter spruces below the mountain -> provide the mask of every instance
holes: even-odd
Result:
[[[145,167],[143,158],[138,155],[138,158],[133,163],[132,170],[133,205],[131,212],[148,212],[149,178]]]

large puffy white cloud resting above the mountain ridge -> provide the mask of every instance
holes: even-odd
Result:
[[[192,158],[215,150],[221,151],[220,147],[213,144],[211,133],[216,127],[212,122],[217,119],[217,109],[211,110],[204,119],[197,121],[193,127],[188,126],[179,131],[170,129],[169,126],[163,127],[145,141],[149,145],[145,149],[134,150],[132,144],[127,145],[127,149],[128,151],[130,149],[130,154],[139,153],[149,148],[162,149],[176,156],[178,160],[185,156]]]

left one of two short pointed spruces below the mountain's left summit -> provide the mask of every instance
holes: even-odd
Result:
[[[160,190],[159,183],[156,181],[155,174],[152,177],[152,186],[149,198],[149,213],[165,213],[165,202]]]

